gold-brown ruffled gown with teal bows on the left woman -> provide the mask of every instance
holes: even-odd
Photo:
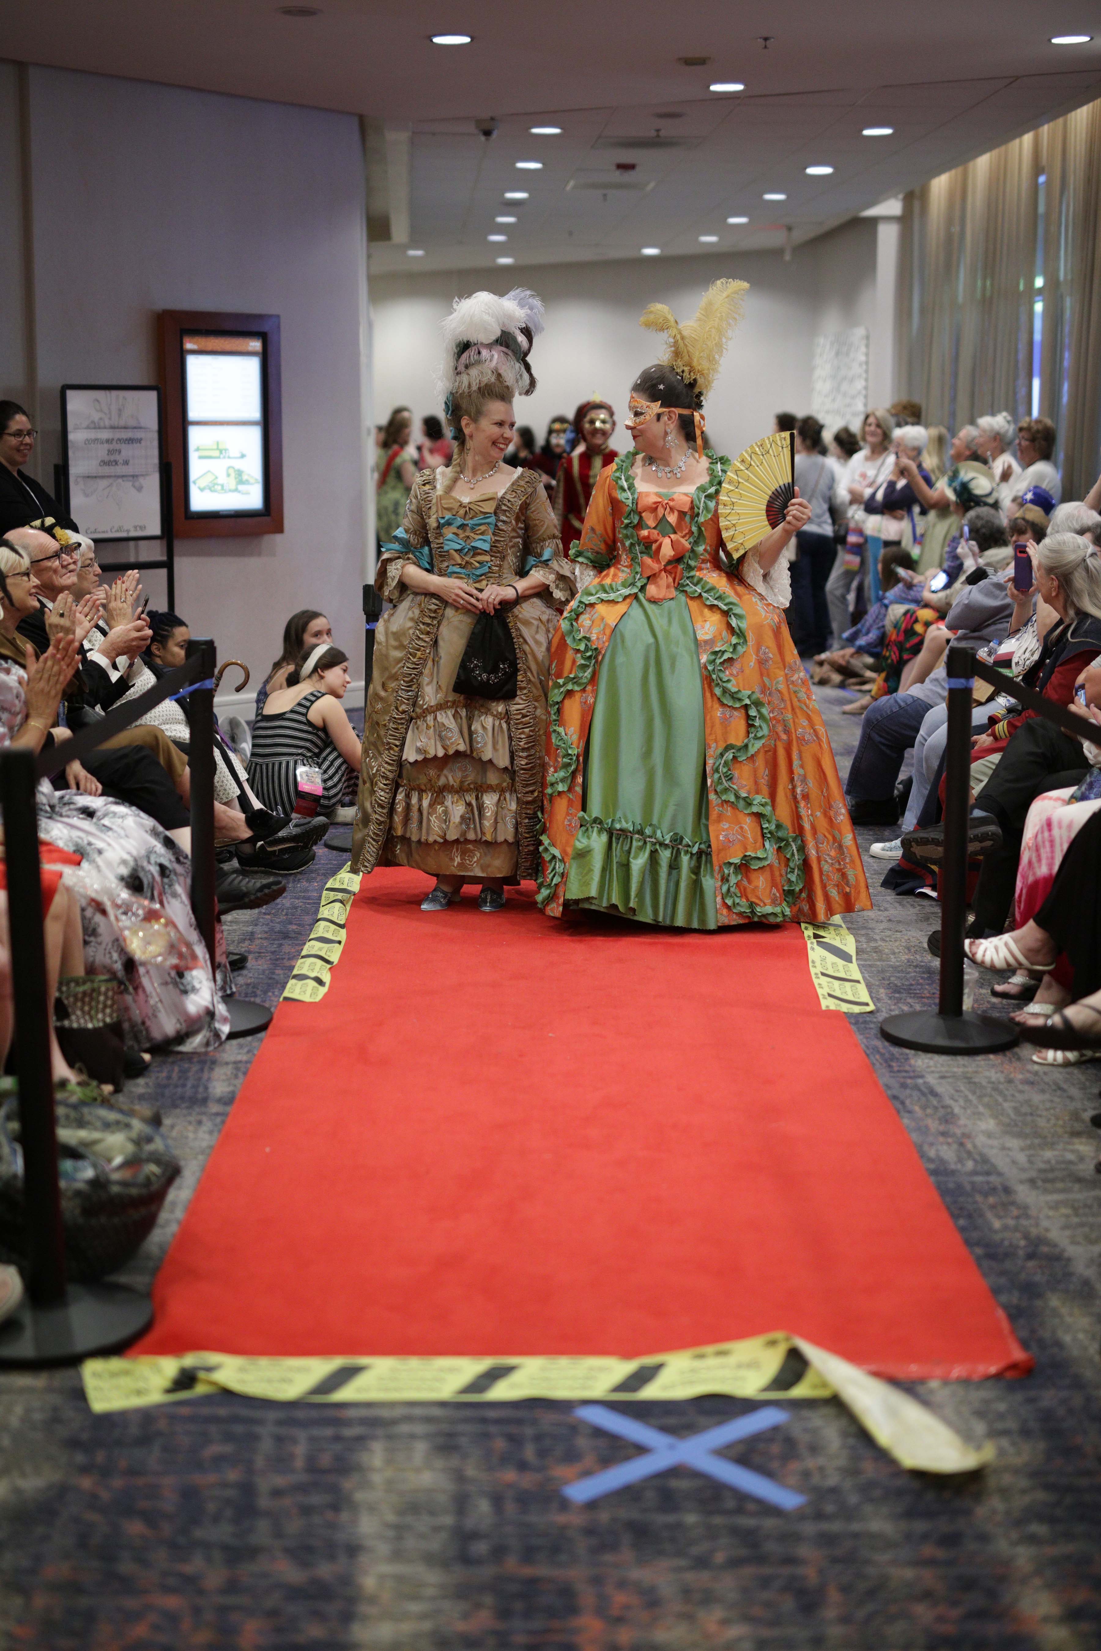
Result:
[[[375,588],[395,606],[375,632],[352,867],[518,882],[538,872],[550,639],[574,578],[536,472],[470,500],[447,484],[447,471],[423,471],[381,550]],[[475,589],[528,573],[545,581],[500,609],[517,647],[513,700],[454,692],[477,616],[403,584],[409,561]]]

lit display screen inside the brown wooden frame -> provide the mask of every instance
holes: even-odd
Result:
[[[180,334],[187,513],[264,515],[264,335]]]

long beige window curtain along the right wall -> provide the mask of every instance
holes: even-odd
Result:
[[[906,196],[898,320],[900,395],[926,424],[1025,418],[1038,376],[1063,497],[1083,497],[1101,466],[1101,102]]]

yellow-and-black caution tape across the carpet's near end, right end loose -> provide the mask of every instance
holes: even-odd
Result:
[[[974,1473],[994,1456],[867,1370],[797,1336],[776,1332],[647,1359],[550,1354],[515,1359],[267,1359],[190,1352],[182,1357],[86,1359],[84,1393],[102,1415],[229,1392],[307,1403],[502,1403],[553,1398],[683,1400],[839,1397],[903,1468]]]

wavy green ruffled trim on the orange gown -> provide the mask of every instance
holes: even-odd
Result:
[[[622,545],[631,558],[631,578],[614,586],[598,584],[593,581],[593,584],[588,584],[584,591],[581,591],[561,619],[563,634],[576,655],[578,669],[573,675],[551,682],[550,688],[551,741],[555,751],[558,753],[558,763],[546,776],[548,796],[556,796],[569,789],[579,759],[573,738],[565,728],[558,726],[561,702],[566,693],[588,687],[599,660],[596,644],[578,629],[576,614],[581,608],[589,608],[606,599],[621,601],[624,596],[637,596],[645,586],[640,566],[642,545],[637,533],[639,494],[634,475],[631,474],[636,457],[636,451],[631,449],[631,452],[624,452],[612,464],[612,485],[624,504],[624,520],[619,532]],[[761,821],[761,835],[764,839],[761,849],[754,849],[749,854],[736,855],[735,859],[723,862],[720,870],[723,900],[738,916],[753,918],[761,923],[786,923],[791,918],[792,900],[802,892],[804,885],[802,839],[787,830],[786,826],[781,826],[771,802],[766,797],[756,797],[746,791],[740,791],[730,774],[735,763],[744,763],[761,750],[771,728],[769,713],[759,693],[753,693],[748,688],[735,688],[726,679],[726,667],[735,659],[740,659],[746,649],[746,611],[741,603],[730,594],[730,591],[711,584],[711,581],[702,578],[698,571],[700,560],[706,548],[706,522],[715,510],[728,466],[730,459],[721,454],[710,454],[708,479],[700,489],[697,489],[695,507],[692,512],[692,535],[688,540],[688,550],[682,558],[683,571],[680,578],[680,589],[687,596],[700,598],[700,601],[711,608],[720,608],[730,624],[728,641],[720,647],[711,649],[705,660],[705,670],[711,679],[711,687],[715,688],[718,700],[731,710],[744,710],[748,730],[744,740],[725,745],[716,755],[711,766],[711,784],[715,786],[716,796],[721,797],[723,802],[733,804],[733,807],[740,809],[743,814],[758,816]],[[593,566],[598,565],[591,556],[574,560],[589,561]],[[589,821],[586,816],[581,819],[583,824],[588,826],[604,826],[602,821]],[[627,830],[632,835],[637,835],[637,827],[631,827],[622,821],[612,821],[604,829],[616,832]],[[670,837],[659,832],[657,827],[644,827],[642,834],[664,847],[693,849],[687,839],[673,842]],[[771,865],[777,852],[786,859],[781,905],[758,906],[738,893],[738,880],[743,870],[759,870],[761,867]],[[540,906],[545,906],[551,900],[555,888],[566,873],[566,862],[546,835],[543,837],[543,855],[546,859],[548,870],[546,883],[538,885],[536,898]]]

